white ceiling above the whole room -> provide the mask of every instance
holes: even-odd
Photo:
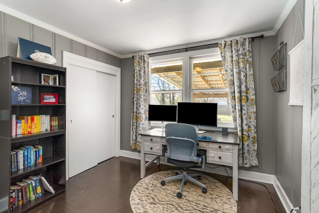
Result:
[[[296,0],[0,0],[0,10],[124,58],[274,35]]]

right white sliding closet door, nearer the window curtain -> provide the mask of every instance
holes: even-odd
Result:
[[[98,163],[114,157],[115,151],[115,76],[96,73]]]

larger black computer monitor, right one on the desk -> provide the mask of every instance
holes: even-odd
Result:
[[[217,127],[217,103],[177,103],[177,123],[195,125],[197,133],[204,133],[198,126]]]

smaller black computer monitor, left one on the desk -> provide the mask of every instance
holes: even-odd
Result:
[[[161,128],[164,131],[164,121],[176,122],[176,105],[149,105],[149,121],[161,121]]]

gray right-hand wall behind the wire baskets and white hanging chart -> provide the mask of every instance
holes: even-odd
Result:
[[[290,93],[290,57],[289,52],[303,40],[298,10],[304,24],[304,0],[298,0],[285,22],[276,33],[275,48],[280,43],[287,43],[287,91],[275,93],[275,124],[276,124],[276,169],[275,175],[287,197],[294,207],[301,204],[301,155],[302,155],[302,106],[289,106]],[[298,17],[299,18],[299,17]],[[296,36],[295,28],[297,23]],[[294,46],[293,46],[294,45]]]

